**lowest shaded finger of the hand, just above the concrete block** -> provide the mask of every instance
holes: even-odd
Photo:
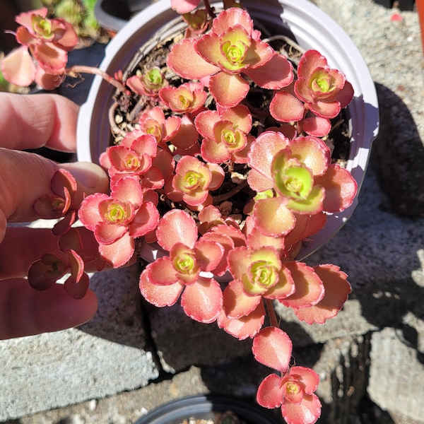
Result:
[[[72,328],[91,319],[97,307],[98,300],[91,290],[76,300],[63,285],[37,291],[23,278],[1,281],[0,339]]]

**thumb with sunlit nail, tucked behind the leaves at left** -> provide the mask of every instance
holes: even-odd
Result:
[[[27,222],[39,218],[33,204],[41,196],[52,194],[50,182],[59,169],[52,160],[35,153],[0,148],[0,242],[5,220]],[[104,170],[93,163],[64,164],[76,178],[78,192],[105,192],[109,182]],[[1,214],[2,211],[2,214]],[[1,216],[2,215],[2,216]]]

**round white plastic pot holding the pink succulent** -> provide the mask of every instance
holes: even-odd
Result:
[[[222,7],[220,2],[212,6]],[[265,28],[278,28],[290,35],[303,49],[317,49],[329,62],[329,66],[341,70],[355,90],[353,101],[348,106],[351,148],[347,169],[361,187],[370,157],[372,141],[378,133],[379,113],[377,93],[363,57],[350,37],[334,20],[308,0],[245,0],[252,18]],[[160,0],[148,6],[129,20],[119,30],[106,48],[100,69],[113,75],[125,69],[139,47],[151,37],[170,35],[175,25],[170,21],[178,18],[170,8],[170,0]],[[177,25],[184,25],[179,23]],[[100,153],[110,141],[110,127],[107,112],[112,105],[114,88],[96,76],[93,80],[86,103],[78,116],[77,154],[78,160],[98,163]],[[322,247],[353,213],[358,201],[341,213],[329,216],[325,227],[312,237],[307,249],[303,248],[299,260]],[[145,259],[154,260],[158,252],[146,246]]]

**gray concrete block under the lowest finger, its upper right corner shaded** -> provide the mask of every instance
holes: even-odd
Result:
[[[158,377],[137,274],[133,266],[93,276],[98,314],[79,329],[0,343],[0,420],[136,389]]]

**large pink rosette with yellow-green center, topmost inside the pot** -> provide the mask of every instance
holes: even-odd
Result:
[[[245,98],[249,83],[279,89],[293,81],[293,66],[259,38],[247,11],[225,10],[213,20],[211,33],[184,38],[174,45],[167,66],[187,79],[208,77],[208,89],[218,105],[234,107]],[[190,66],[187,66],[190,57]]]

